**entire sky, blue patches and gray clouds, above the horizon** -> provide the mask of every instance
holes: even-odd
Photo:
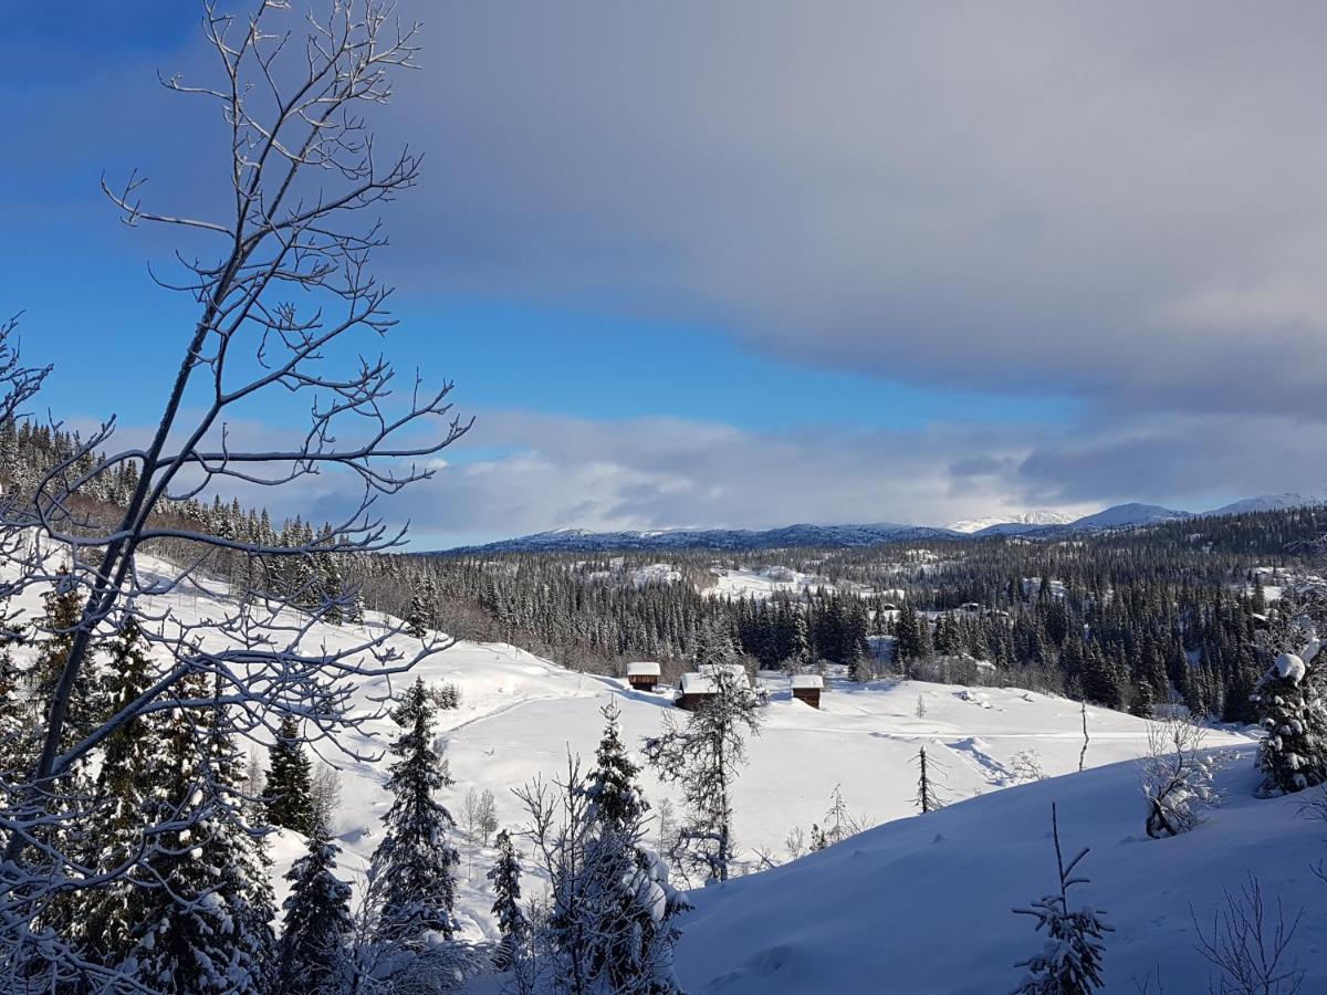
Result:
[[[393,511],[418,541],[1320,490],[1327,15],[832,8],[402,5],[387,350],[478,418]],[[176,245],[97,184],[223,196],[215,118],[155,80],[207,77],[196,25],[7,20],[0,309],[60,418],[142,431],[179,362]]]

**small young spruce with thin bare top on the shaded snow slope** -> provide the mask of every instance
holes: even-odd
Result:
[[[1051,834],[1055,840],[1055,869],[1059,874],[1059,893],[1048,894],[1027,909],[1014,909],[1018,915],[1036,919],[1038,933],[1046,933],[1042,953],[1019,961],[1015,967],[1026,967],[1027,974],[1013,995],[1089,995],[1101,987],[1101,939],[1111,931],[1103,922],[1104,911],[1082,906],[1070,911],[1068,890],[1074,885],[1089,884],[1084,877],[1074,877],[1074,869],[1087,856],[1084,848],[1067,865],[1060,850],[1060,823],[1051,804]]]

